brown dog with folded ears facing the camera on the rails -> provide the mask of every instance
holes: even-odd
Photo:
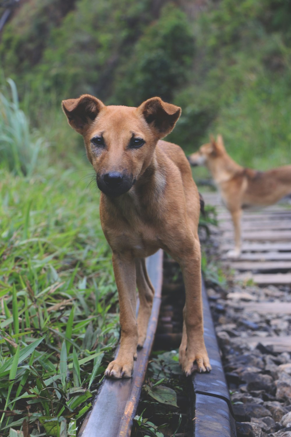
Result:
[[[180,264],[186,288],[179,358],[190,375],[211,366],[203,339],[199,194],[179,146],[160,141],[171,132],[181,108],[153,97],[138,108],[105,106],[84,94],[62,102],[69,124],[83,135],[99,189],[100,218],[113,252],[120,302],[118,357],[105,372],[130,378],[137,346],[147,335],[154,289],[145,257],[159,248]],[[136,320],[136,286],[140,307]]]

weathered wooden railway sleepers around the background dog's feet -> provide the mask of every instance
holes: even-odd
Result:
[[[276,286],[291,291],[291,207],[280,203],[265,210],[245,212],[242,219],[243,245],[238,259],[228,259],[226,252],[233,247],[233,225],[226,209],[215,194],[205,194],[205,203],[216,206],[218,229],[212,229],[219,242],[219,253],[226,268],[234,272],[235,281],[253,283],[261,287]],[[229,301],[242,300],[241,308],[259,314],[291,315],[291,302],[281,302],[269,293],[267,298],[229,293]],[[251,300],[250,302],[246,302]],[[240,340],[238,340],[240,341]],[[252,345],[258,342],[272,346],[275,351],[291,352],[289,336],[254,336]]]

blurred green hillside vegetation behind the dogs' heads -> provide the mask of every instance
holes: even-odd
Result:
[[[290,20],[290,0],[23,0],[1,35],[1,65],[57,142],[68,132],[51,115],[62,98],[160,95],[182,107],[170,139],[187,152],[219,132],[240,163],[266,168],[291,151]]]

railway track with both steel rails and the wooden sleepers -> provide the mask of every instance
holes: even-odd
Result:
[[[217,207],[219,227],[212,229],[212,238],[214,236],[216,242],[219,243],[220,258],[226,269],[234,272],[235,280],[242,284],[251,282],[263,287],[266,284],[272,284],[276,287],[291,288],[291,210],[279,205],[268,208],[265,213],[247,213],[243,221],[242,256],[239,260],[229,260],[226,257],[226,251],[232,245],[230,217],[219,206],[216,195],[206,194],[203,197],[205,197],[206,204]],[[163,285],[162,263],[161,251],[148,260],[148,272],[156,295],[147,341],[144,348],[137,353],[133,377],[127,380],[105,380],[103,382],[92,410],[79,430],[79,437],[129,437],[153,344],[158,349],[171,350],[177,348],[181,341],[181,317],[179,319],[177,313],[181,312],[183,302],[176,304],[175,299],[177,295],[181,298],[183,286],[173,284],[171,281],[167,282],[167,280]],[[166,273],[173,263],[170,259],[164,260]],[[240,294],[231,289],[227,294],[226,302],[234,307],[239,305],[240,310],[242,309],[246,316],[252,312],[259,314],[275,312],[277,316],[291,314],[291,301],[281,302],[271,294],[269,300],[262,300],[256,296],[246,298],[246,294],[246,292]],[[250,418],[241,411],[237,413],[237,408],[233,409],[204,283],[202,295],[205,344],[209,352],[212,371],[210,374],[194,373],[191,378],[187,379],[189,397],[185,416],[188,417],[188,425],[186,431],[178,435],[184,437],[259,436],[261,434],[254,434],[252,431],[249,434],[243,434],[244,431],[240,427],[236,434],[236,420],[243,421],[250,420]],[[181,308],[175,308],[179,305]],[[161,315],[158,321],[160,306]],[[218,335],[221,342],[223,338],[221,332]],[[243,332],[242,337],[237,336],[232,340],[233,344],[237,343],[238,346],[241,342],[247,342],[253,349],[259,344],[260,347],[272,347],[274,353],[291,352],[289,336],[262,336],[255,335],[253,332],[248,336],[247,332]],[[233,374],[230,374],[230,380],[229,375],[226,374],[226,376],[227,381],[231,382]]]

